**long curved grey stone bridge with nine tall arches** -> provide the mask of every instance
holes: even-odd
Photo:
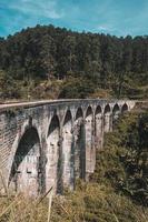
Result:
[[[76,179],[93,173],[103,133],[134,105],[99,99],[1,104],[1,179],[31,195],[73,189]]]

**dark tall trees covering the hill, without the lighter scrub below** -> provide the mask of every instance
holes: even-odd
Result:
[[[148,37],[117,38],[38,24],[0,38],[0,70],[14,80],[87,78],[117,97],[135,94],[148,82]]]

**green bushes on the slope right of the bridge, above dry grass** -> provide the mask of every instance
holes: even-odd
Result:
[[[127,114],[105,141],[93,179],[148,205],[148,113]]]

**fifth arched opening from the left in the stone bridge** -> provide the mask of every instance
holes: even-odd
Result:
[[[93,172],[93,163],[95,163],[95,157],[93,157],[93,141],[92,141],[92,134],[93,134],[93,113],[91,107],[88,107],[86,112],[86,178],[89,179],[89,175]]]

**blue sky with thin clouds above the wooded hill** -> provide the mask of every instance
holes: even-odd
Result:
[[[148,0],[0,0],[0,37],[38,23],[144,36],[148,34]]]

